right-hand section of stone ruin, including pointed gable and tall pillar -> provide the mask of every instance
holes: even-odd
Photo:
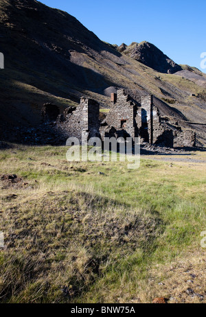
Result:
[[[195,133],[181,128],[172,115],[170,107],[153,95],[135,102],[119,89],[111,95],[111,110],[101,124],[101,137],[140,137],[142,143],[170,148],[195,146]]]

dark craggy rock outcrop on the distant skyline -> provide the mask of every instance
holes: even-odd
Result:
[[[123,43],[117,50],[160,73],[176,73],[176,71],[182,70],[181,66],[163,54],[155,45],[148,42],[134,42],[129,46]]]

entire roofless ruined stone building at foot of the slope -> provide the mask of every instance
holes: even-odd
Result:
[[[54,114],[54,106],[53,106]],[[48,117],[45,109],[44,115]],[[67,108],[58,115],[56,126],[68,137],[135,137],[141,143],[163,145],[170,148],[195,146],[196,135],[192,130],[183,128],[179,114],[153,95],[131,98],[124,89],[111,94],[111,110],[100,121],[100,105],[93,99],[82,97],[78,108]]]

